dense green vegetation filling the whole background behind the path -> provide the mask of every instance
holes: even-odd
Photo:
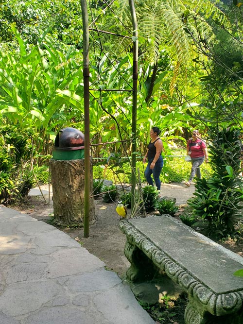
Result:
[[[112,172],[117,182],[126,182],[131,172],[135,40],[128,1],[107,5],[90,0],[88,4],[91,154],[102,159],[98,161],[105,165],[103,177],[104,171]],[[167,156],[178,148],[185,149],[193,128],[199,129],[208,143],[226,127],[240,136],[242,3],[136,0],[135,7],[139,25],[138,161],[146,150],[152,125],[162,129]],[[48,167],[60,129],[71,126],[84,130],[81,17],[79,0],[6,0],[0,6],[2,203],[28,193],[36,181],[35,168]],[[226,141],[223,136],[220,145],[225,147]],[[109,144],[103,144],[106,142]],[[235,140],[230,154],[238,152],[237,147]],[[210,145],[212,158],[217,152]],[[168,181],[167,174],[170,178],[170,165],[177,163],[168,161],[163,181]],[[228,176],[239,171],[227,157],[223,163],[219,159],[212,159],[212,163]],[[142,173],[139,162],[138,166]],[[181,173],[173,176],[177,181],[185,178]],[[208,190],[208,178],[197,184],[200,192]],[[226,182],[225,192],[228,185]],[[237,187],[230,184],[230,188],[240,192],[240,202],[241,183]],[[216,194],[219,201],[225,200],[224,190],[222,195]],[[216,203],[213,198],[209,205],[217,208]],[[202,217],[207,220],[209,214]],[[230,228],[226,225],[226,231],[220,231],[226,235]]]

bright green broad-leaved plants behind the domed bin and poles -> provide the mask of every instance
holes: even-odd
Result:
[[[57,51],[46,33],[31,47],[17,30],[15,36],[19,43],[19,54],[13,56],[12,53],[0,52],[0,122],[18,124],[20,129],[34,129],[38,134],[34,138],[36,151],[41,155],[48,155],[53,137],[60,128],[75,123],[76,128],[84,130],[84,93],[80,72],[82,65],[77,63],[81,53],[73,47],[70,47],[69,51]],[[90,60],[97,60],[97,56],[90,55]],[[90,66],[90,81],[93,87],[131,90],[131,53],[117,60],[117,66],[110,64],[106,54],[102,54],[99,60]],[[96,64],[100,64],[99,68]],[[139,74],[141,76],[142,69],[139,70]],[[122,75],[127,76],[126,80]],[[146,81],[141,81],[143,82]],[[141,88],[144,89],[142,84]],[[115,174],[116,182],[131,182],[131,166],[128,163],[126,167],[124,164],[124,157],[131,155],[130,100],[126,98],[126,92],[119,95],[106,91],[91,93],[91,142],[95,144],[114,141],[105,146],[105,149],[95,148],[96,156],[108,159],[109,170]],[[184,107],[176,107],[173,112],[168,109],[161,110],[161,103],[157,97],[152,103],[153,107],[147,106],[145,95],[146,93],[142,92],[138,96],[138,106],[142,108],[137,112],[137,136],[140,143],[138,155],[141,156],[146,149],[153,120],[156,120],[157,126],[164,129],[163,140],[169,153],[167,141],[173,141],[174,134],[179,134],[182,127],[188,127],[190,116],[182,113]],[[118,139],[128,141],[116,142]],[[124,168],[121,168],[121,164],[124,164]]]

